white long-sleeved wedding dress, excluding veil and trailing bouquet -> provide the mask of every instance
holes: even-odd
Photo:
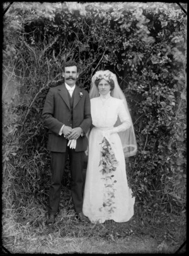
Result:
[[[135,198],[127,184],[125,156],[117,132],[128,129],[130,120],[122,100],[113,98],[110,94],[105,98],[99,96],[91,99],[91,117],[95,127],[89,134],[83,213],[92,223],[104,223],[108,219],[118,223],[129,221],[134,215]],[[120,117],[122,124],[113,128],[117,117]],[[108,130],[114,133],[108,136]],[[116,170],[109,175],[100,172],[101,142],[104,136],[118,161]]]

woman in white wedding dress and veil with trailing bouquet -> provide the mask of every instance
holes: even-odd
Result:
[[[134,215],[135,198],[127,184],[125,157],[137,153],[134,127],[117,76],[97,71],[91,81],[88,167],[83,213],[92,223],[121,223]]]

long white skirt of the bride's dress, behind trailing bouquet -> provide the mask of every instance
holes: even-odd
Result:
[[[135,198],[128,187],[125,156],[117,133],[108,138],[117,160],[117,168],[108,174],[101,172],[101,143],[103,132],[107,129],[111,127],[93,127],[89,134],[83,213],[92,223],[104,223],[108,219],[122,223],[129,221],[134,215]]]

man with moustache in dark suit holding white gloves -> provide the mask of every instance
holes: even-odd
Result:
[[[49,129],[47,149],[51,154],[52,170],[47,224],[55,223],[59,210],[61,182],[67,156],[71,166],[71,197],[74,210],[81,221],[88,222],[82,212],[82,206],[84,151],[88,145],[86,133],[91,126],[90,100],[88,92],[76,86],[79,76],[76,62],[66,62],[62,76],[65,83],[50,88],[42,112],[44,124]]]

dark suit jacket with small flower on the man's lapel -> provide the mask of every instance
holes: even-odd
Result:
[[[42,118],[44,124],[49,129],[47,149],[54,152],[66,152],[68,141],[64,138],[63,134],[59,136],[62,125],[65,124],[72,128],[81,127],[84,134],[86,134],[91,126],[91,105],[88,92],[80,89],[78,86],[75,88],[72,125],[71,108],[65,84],[50,88],[43,107]],[[88,139],[86,136],[80,136],[77,139],[75,150],[85,151],[87,146]]]

